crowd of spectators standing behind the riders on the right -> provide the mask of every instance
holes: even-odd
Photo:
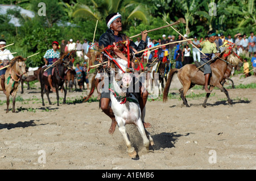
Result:
[[[187,35],[184,35],[185,38],[188,38]],[[178,35],[177,38],[174,35],[168,35],[166,38],[166,35],[162,35],[162,39],[152,39],[148,38],[147,42],[147,48],[155,47],[157,45],[163,45],[175,41],[184,40],[184,37],[181,35]],[[204,37],[197,37],[193,36],[192,43],[195,45],[199,45],[202,41],[208,40],[208,36]],[[225,41],[226,40],[226,41]],[[138,45],[140,42],[140,38],[137,37],[137,41],[135,41],[135,44]],[[238,56],[244,56],[251,59],[251,62],[253,63],[252,66],[255,68],[256,66],[256,60],[254,58],[254,52],[256,52],[256,35],[254,35],[254,32],[250,32],[250,36],[247,37],[246,33],[237,33],[236,35],[224,35],[224,33],[219,33],[216,36],[216,40],[214,41],[217,47],[217,52],[221,52],[221,46],[225,43],[236,43],[236,53]],[[201,50],[201,49],[200,49]],[[172,65],[175,64],[175,68],[180,69],[182,66],[186,64],[192,64],[195,61],[200,62],[201,53],[199,49],[195,48],[195,46],[192,46],[187,41],[184,41],[182,43],[177,44],[170,44],[163,47],[159,47],[155,50],[147,50],[143,53],[142,61],[151,63],[154,61],[154,58],[158,57],[158,60],[160,61],[170,61]],[[246,58],[246,60],[247,60]],[[149,65],[149,64],[147,64]],[[147,67],[146,67],[147,68]],[[246,69],[246,70],[249,70]],[[256,70],[254,70],[254,74],[256,73]]]

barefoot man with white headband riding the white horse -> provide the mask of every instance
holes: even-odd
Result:
[[[114,43],[116,43],[118,41],[123,41],[123,40],[129,39],[129,37],[127,37],[126,34],[121,33],[121,31],[122,31],[121,18],[122,18],[122,16],[118,12],[109,14],[106,17],[106,25],[108,26],[108,30],[106,30],[106,32],[101,35],[100,40],[98,41],[98,45],[100,48],[105,48],[105,47],[108,47],[108,45],[113,45]],[[142,38],[141,38],[141,41],[138,46],[133,41],[130,41],[130,46],[133,47],[134,49],[136,49],[138,52],[147,47],[146,30],[141,32],[141,36],[142,36]],[[133,52],[133,50],[130,49],[130,52]],[[143,52],[137,53],[137,54],[135,54],[135,56],[141,57],[142,54],[143,54]],[[108,58],[106,58],[106,59],[108,59]],[[97,77],[97,75],[96,75],[96,77]],[[106,79],[106,77],[104,79]],[[109,77],[109,79],[110,79],[110,77]],[[108,86],[108,85],[106,85],[106,86]],[[144,89],[142,91],[143,88],[144,87],[141,86],[141,89],[140,89],[141,98],[139,99],[139,106],[141,107],[141,111],[143,110],[143,108],[147,102],[147,96],[148,96],[148,92],[144,91],[146,89]],[[114,116],[112,108],[109,106],[109,103],[110,103],[110,91],[105,92],[104,89],[102,89],[101,100],[100,100],[101,109],[106,115],[108,115],[110,117],[110,119],[112,119],[112,124],[109,129],[109,133],[113,134],[115,131],[115,126],[117,125],[117,121],[115,121],[115,116]],[[144,127],[150,127],[150,125],[144,124]]]

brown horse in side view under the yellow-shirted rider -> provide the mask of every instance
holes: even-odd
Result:
[[[228,56],[225,57],[225,54],[230,53]],[[212,91],[214,87],[218,87],[221,91],[223,91],[227,98],[228,98],[228,103],[230,106],[232,106],[232,100],[229,98],[228,91],[221,85],[221,81],[224,78],[224,74],[226,72],[226,69],[228,67],[228,63],[225,61],[228,61],[232,65],[238,65],[240,62],[240,58],[236,56],[236,54],[233,52],[233,49],[230,50],[226,49],[224,52],[221,53],[221,59],[216,58],[212,64],[210,64],[210,67],[212,68],[212,75],[209,80],[209,85],[210,88],[209,90]],[[225,60],[225,61],[223,61]],[[168,91],[170,89],[171,85],[171,80],[174,75],[174,73],[177,73],[177,77],[179,78],[181,84],[183,85],[183,88],[179,90],[180,92],[180,97],[183,100],[183,103],[185,106],[188,106],[187,99],[185,98],[187,91],[191,89],[195,85],[205,85],[205,78],[204,78],[204,73],[200,70],[196,69],[195,64],[187,64],[183,66],[181,69],[171,69],[167,83],[166,83],[166,88],[164,89],[164,94],[163,94],[163,101],[166,102],[167,96],[168,96]],[[203,107],[206,107],[207,99],[209,98],[210,93],[207,93]]]

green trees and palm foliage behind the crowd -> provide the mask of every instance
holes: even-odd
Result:
[[[175,26],[183,35],[189,32],[190,37],[197,35],[204,37],[210,29],[225,34],[256,32],[256,15],[254,0],[226,0],[226,1],[195,1],[195,0],[77,0],[77,1],[51,1],[46,3],[46,16],[39,16],[38,3],[35,1],[9,1],[2,0],[2,4],[20,6],[23,9],[34,11],[35,17],[30,19],[20,15],[18,9],[9,10],[8,15],[20,19],[21,27],[9,24],[10,16],[0,15],[1,38],[15,55],[23,57],[31,54],[40,54],[28,58],[27,66],[41,66],[44,64],[43,55],[51,48],[52,41],[77,40],[87,38],[93,40],[96,20],[98,20],[95,40],[98,41],[107,29],[105,18],[112,12],[122,14],[123,32],[128,36],[137,35],[143,30],[152,30],[167,25],[166,22],[176,22],[184,18],[186,23]],[[217,15],[209,15],[209,3],[217,5]],[[70,24],[67,24],[69,22]],[[61,25],[60,25],[61,24]],[[172,28],[148,33],[151,39],[162,38],[162,35],[175,35]],[[134,39],[135,40],[135,39]]]

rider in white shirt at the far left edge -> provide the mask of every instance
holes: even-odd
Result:
[[[1,39],[0,40],[0,48],[6,46],[6,40]],[[10,50],[7,50],[5,48],[0,49],[0,68],[3,68],[4,66],[9,65],[10,61],[14,58],[13,54],[8,54],[11,53]],[[5,54],[5,55],[2,55]],[[0,70],[0,77],[1,77],[1,86],[3,89],[3,93],[6,94],[5,90],[5,72],[6,69]]]

